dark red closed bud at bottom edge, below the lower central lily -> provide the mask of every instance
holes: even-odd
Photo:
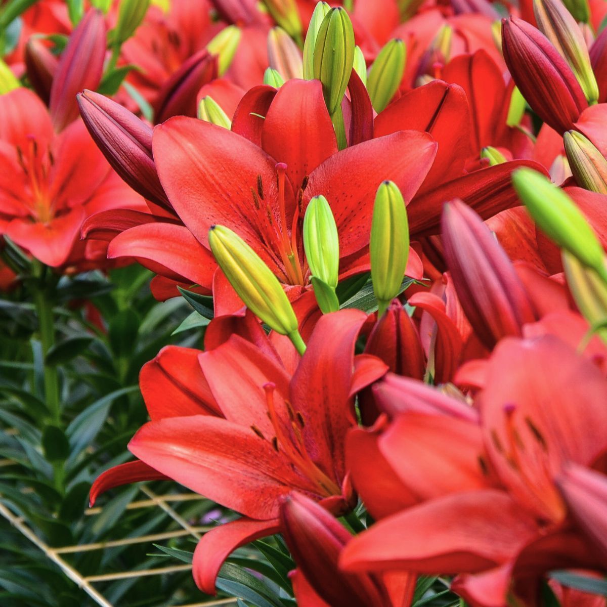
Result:
[[[280,509],[282,535],[297,568],[317,594],[335,607],[390,605],[377,582],[367,574],[347,574],[337,565],[352,536],[315,501],[291,493]]]

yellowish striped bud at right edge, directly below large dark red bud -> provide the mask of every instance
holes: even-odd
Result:
[[[591,192],[607,194],[607,160],[592,141],[577,131],[563,135],[571,172],[578,185]]]

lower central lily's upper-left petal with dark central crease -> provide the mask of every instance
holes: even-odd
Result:
[[[164,347],[141,368],[139,387],[152,421],[222,412],[198,362],[200,350]]]

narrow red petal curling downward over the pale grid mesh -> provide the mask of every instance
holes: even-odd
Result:
[[[211,529],[194,551],[194,582],[206,594],[215,594],[215,580],[226,558],[240,546],[280,531],[278,520],[240,518]]]

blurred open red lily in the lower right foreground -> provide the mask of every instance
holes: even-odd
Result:
[[[607,448],[605,398],[602,371],[557,337],[503,339],[475,401],[477,424],[404,412],[379,436],[390,464],[380,470],[403,488],[396,494],[402,507],[395,509],[394,493],[385,504],[376,497],[375,509],[387,517],[346,546],[341,565],[458,573],[454,591],[486,607],[506,605],[509,592],[524,597],[551,569],[602,571],[595,535],[572,528],[582,511],[576,514],[561,490],[569,466],[599,464]],[[412,442],[432,456],[419,456]],[[355,487],[366,482],[357,471],[364,465],[351,466]],[[579,494],[572,490],[572,499]],[[405,505],[405,497],[415,505]]]

